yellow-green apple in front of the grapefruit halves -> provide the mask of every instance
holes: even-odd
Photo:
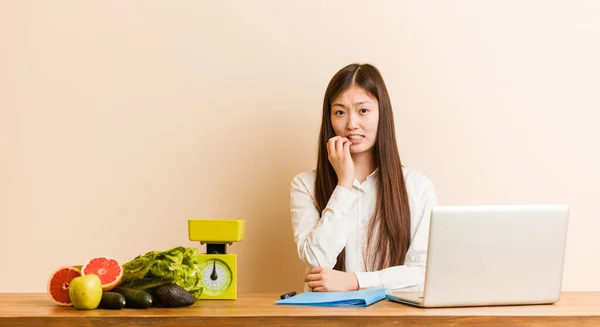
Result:
[[[100,277],[89,274],[73,278],[69,284],[69,297],[75,309],[96,309],[102,300]]]

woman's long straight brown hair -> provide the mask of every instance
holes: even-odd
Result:
[[[369,266],[381,270],[404,264],[410,242],[410,208],[402,174],[402,163],[396,143],[392,104],[383,78],[369,64],[351,64],[338,71],[329,82],[323,99],[323,119],[319,134],[319,154],[315,181],[316,204],[319,212],[337,185],[337,175],[327,156],[327,141],[335,136],[331,125],[331,104],[343,91],[360,86],[379,102],[377,139],[373,148],[377,169],[377,204],[368,230],[367,248],[376,239]],[[375,232],[377,233],[376,238]],[[369,251],[366,251],[367,253]],[[337,257],[334,269],[345,271],[345,250]],[[365,267],[367,268],[367,267]]]

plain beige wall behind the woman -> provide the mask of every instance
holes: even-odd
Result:
[[[563,289],[600,290],[599,22],[593,0],[0,0],[0,292],[195,246],[193,217],[247,220],[240,290],[300,290],[289,182],[351,62],[440,204],[570,204]]]

